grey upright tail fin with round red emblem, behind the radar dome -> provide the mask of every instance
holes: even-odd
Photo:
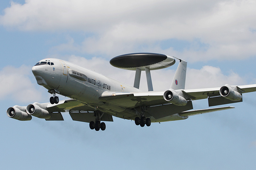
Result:
[[[185,89],[186,72],[187,72],[187,62],[185,62],[184,60],[180,60],[175,76],[172,80],[172,85],[170,87],[171,89],[173,90]]]

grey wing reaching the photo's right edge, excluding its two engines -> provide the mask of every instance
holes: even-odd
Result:
[[[241,85],[241,86],[232,86],[236,87],[237,91],[242,94],[246,92],[255,92],[256,84],[254,85]],[[179,90],[177,90],[179,91]],[[200,100],[211,98],[210,101],[214,102],[216,100],[223,100],[218,102],[217,105],[228,104],[230,103],[240,102],[242,100],[234,101],[229,100],[220,95],[220,87],[216,88],[204,88],[204,89],[190,89],[190,90],[180,90],[182,92],[182,96],[186,100]],[[164,91],[161,92],[103,92],[99,99],[104,102],[110,102],[119,106],[134,108],[138,106],[151,106],[151,105],[162,105],[166,103],[170,103],[164,100]],[[213,97],[219,97],[214,98]],[[216,106],[216,105],[212,105]]]

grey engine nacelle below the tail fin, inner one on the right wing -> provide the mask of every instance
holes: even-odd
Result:
[[[164,92],[164,100],[177,106],[185,106],[187,104],[187,100],[184,97],[171,89]]]

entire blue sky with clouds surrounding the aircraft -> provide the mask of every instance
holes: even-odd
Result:
[[[18,121],[14,105],[49,102],[31,68],[60,58],[133,85],[115,56],[153,52],[188,62],[186,89],[256,84],[256,2],[252,0],[4,0],[0,2],[0,165],[2,169],[254,169],[256,92],[235,109],[136,126],[113,118],[89,123]],[[170,88],[178,62],[151,71],[153,88]],[[140,89],[147,91],[145,72]],[[60,96],[60,100],[65,100]],[[194,109],[209,108],[207,100]]]

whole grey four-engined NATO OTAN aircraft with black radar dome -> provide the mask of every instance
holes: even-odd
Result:
[[[176,58],[177,59],[177,58]],[[192,100],[207,99],[209,107],[242,101],[242,93],[256,91],[256,85],[224,85],[219,88],[185,90],[187,62],[178,59],[179,65],[170,89],[153,91],[150,70],[172,66],[175,57],[155,53],[133,53],[114,57],[110,64],[135,70],[133,87],[73,63],[48,58],[39,61],[32,72],[39,85],[53,96],[50,103],[33,103],[27,107],[13,106],[7,115],[28,121],[32,116],[47,121],[63,120],[61,112],[69,112],[74,121],[89,122],[91,129],[105,130],[102,121],[113,121],[112,116],[134,120],[141,127],[151,122],[187,119],[188,116],[209,113],[234,107],[217,107],[192,110]],[[139,90],[141,71],[146,71],[148,91]],[[59,101],[56,94],[71,99]]]

